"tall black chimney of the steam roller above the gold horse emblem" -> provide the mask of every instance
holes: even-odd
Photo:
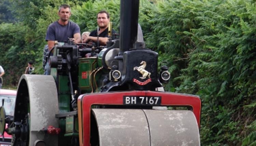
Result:
[[[120,2],[120,53],[134,48],[138,32],[139,4],[139,0]]]

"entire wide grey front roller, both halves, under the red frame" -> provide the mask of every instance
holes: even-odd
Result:
[[[100,146],[200,146],[197,121],[191,111],[93,109],[92,112]]]

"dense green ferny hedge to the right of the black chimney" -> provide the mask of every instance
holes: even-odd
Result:
[[[241,145],[245,121],[255,118],[243,108],[256,95],[254,1],[160,1],[158,7],[147,44],[176,65],[169,83],[176,92],[202,97],[202,145]]]

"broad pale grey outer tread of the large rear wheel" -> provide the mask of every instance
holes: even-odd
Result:
[[[44,140],[47,146],[58,145],[57,135],[48,135],[40,131],[42,128],[52,125],[58,127],[58,119],[55,114],[58,109],[57,88],[52,76],[46,75],[23,75],[28,85],[30,102],[30,133],[29,146],[35,140]]]

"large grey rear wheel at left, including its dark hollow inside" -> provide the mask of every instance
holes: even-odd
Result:
[[[58,135],[50,136],[40,132],[49,125],[58,127],[58,119],[55,118],[58,112],[58,95],[53,76],[22,75],[18,86],[14,122],[28,121],[29,146],[33,146],[36,140],[44,140],[47,146],[58,145]],[[18,141],[16,137],[15,143]]]

